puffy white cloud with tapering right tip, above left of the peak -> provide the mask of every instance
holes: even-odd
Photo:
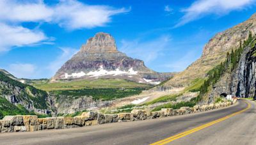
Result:
[[[129,10],[125,8],[90,6],[74,0],[65,0],[54,8],[53,19],[67,29],[93,28],[104,26],[111,22],[111,16],[127,11]]]

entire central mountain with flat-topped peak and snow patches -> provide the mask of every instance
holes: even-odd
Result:
[[[104,32],[88,39],[86,45],[56,72],[58,79],[120,78],[157,85],[172,74],[158,73],[145,67],[144,62],[119,52],[115,39]]]

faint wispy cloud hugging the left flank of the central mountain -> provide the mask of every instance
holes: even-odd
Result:
[[[47,69],[49,69],[52,73],[52,76],[60,67],[67,62],[67,60],[71,59],[71,57],[76,54],[79,50],[74,48],[60,47],[61,55],[59,55],[56,60],[52,61]]]

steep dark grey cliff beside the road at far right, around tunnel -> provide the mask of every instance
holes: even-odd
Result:
[[[221,93],[232,94],[237,97],[253,97],[256,99],[256,38],[250,45],[244,48],[239,63],[232,72],[225,75],[214,85],[209,93],[209,102]]]

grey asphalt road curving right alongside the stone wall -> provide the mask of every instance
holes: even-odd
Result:
[[[168,144],[256,144],[255,102],[250,109]],[[0,144],[151,144],[243,110],[248,104],[156,120],[0,134]]]

